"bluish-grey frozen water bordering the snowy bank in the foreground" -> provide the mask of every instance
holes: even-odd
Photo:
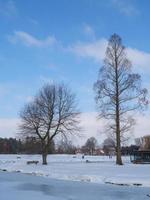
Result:
[[[0,200],[148,200],[149,188],[55,180],[0,172]]]

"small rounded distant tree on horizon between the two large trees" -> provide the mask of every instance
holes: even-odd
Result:
[[[90,137],[87,139],[84,148],[87,149],[87,151],[89,152],[90,155],[93,155],[94,150],[96,148],[97,145],[97,140],[95,137]]]

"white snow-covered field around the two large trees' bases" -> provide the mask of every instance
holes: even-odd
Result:
[[[31,160],[39,163],[27,165]],[[40,155],[0,155],[0,169],[61,180],[150,187],[150,165],[132,164],[129,157],[123,160],[123,166],[116,166],[115,157],[49,155],[48,165],[43,166]]]

